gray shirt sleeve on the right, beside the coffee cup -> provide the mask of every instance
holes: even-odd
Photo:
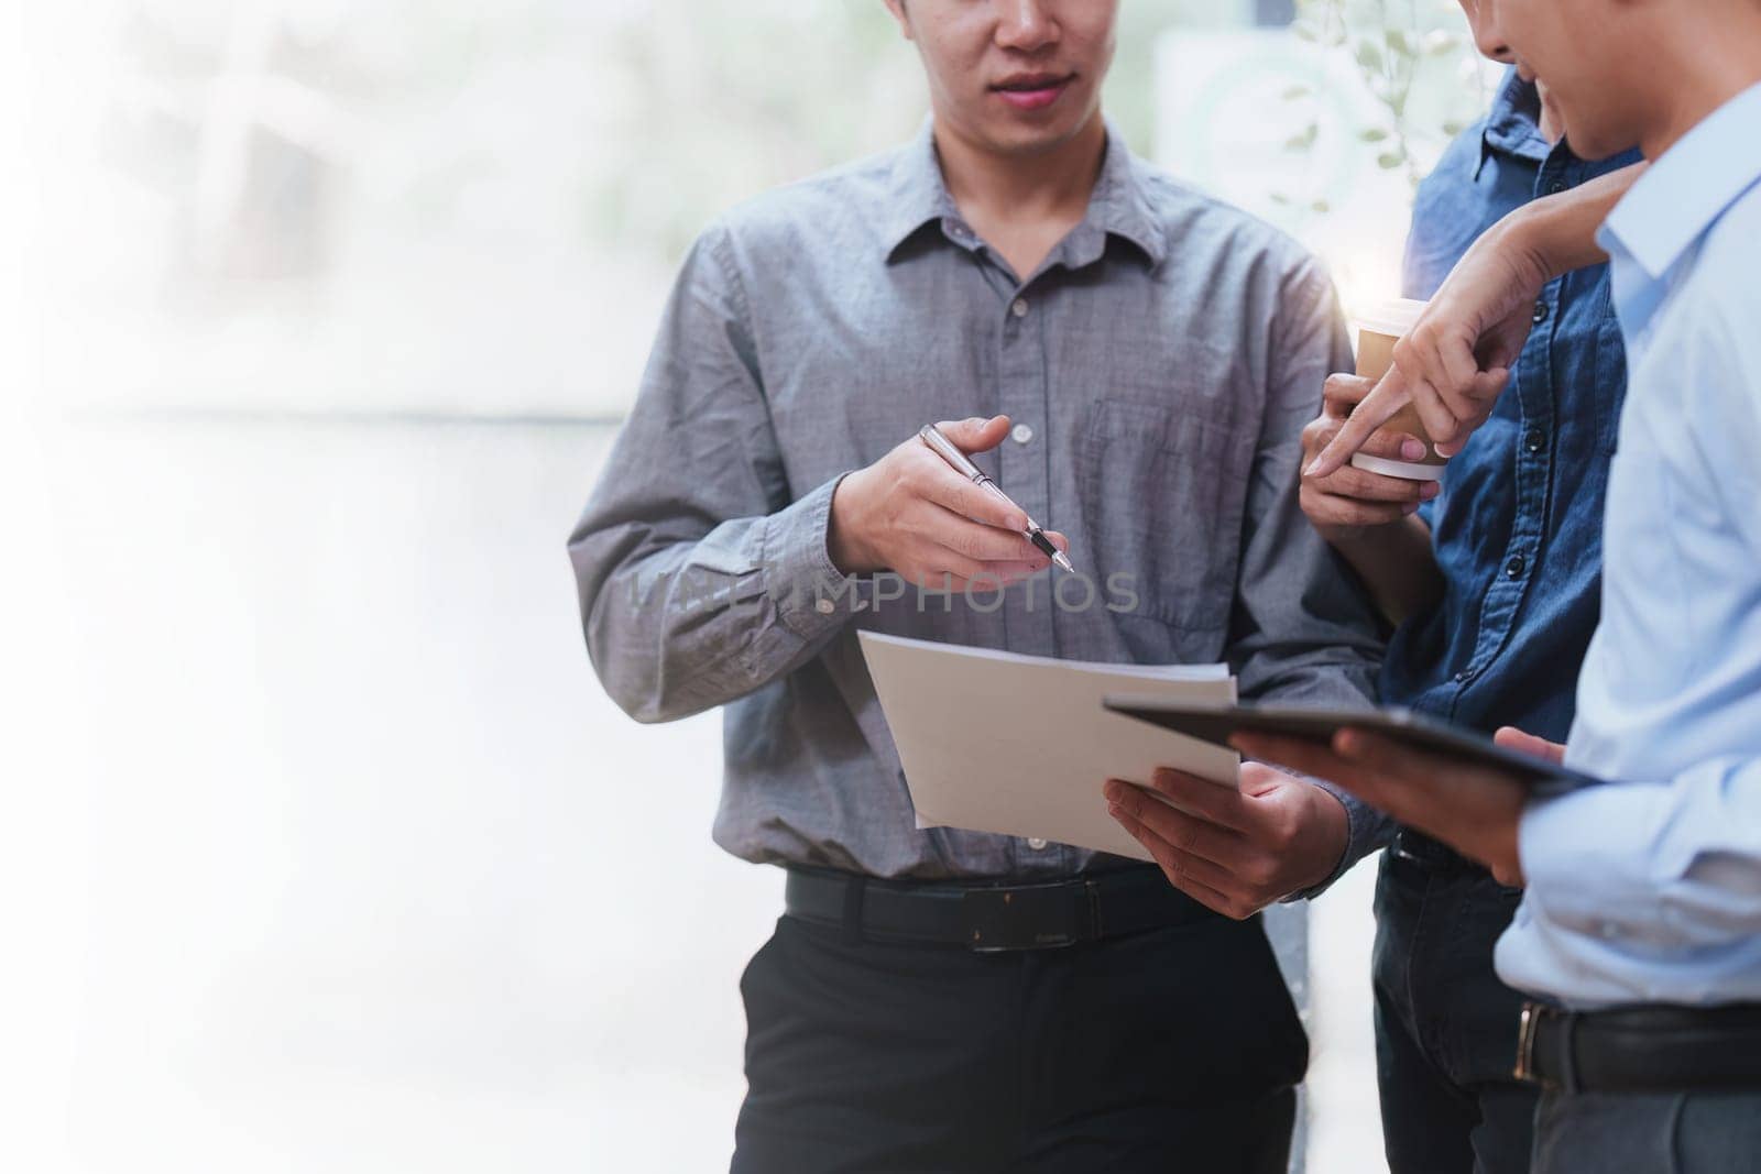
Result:
[[[1382,660],[1381,623],[1298,502],[1301,433],[1321,410],[1331,371],[1352,368],[1333,283],[1312,260],[1284,280],[1273,319],[1266,412],[1254,458],[1229,662],[1242,695],[1370,708]],[[1393,822],[1314,780],[1345,808],[1351,840],[1333,873],[1296,898],[1319,894],[1388,843]]]

